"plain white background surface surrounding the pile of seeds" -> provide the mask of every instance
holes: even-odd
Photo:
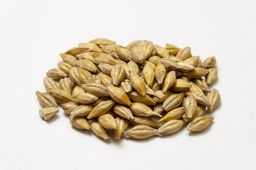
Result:
[[[256,169],[255,1],[1,1],[0,169]],[[146,39],[215,56],[222,104],[213,125],[149,140],[103,142],[35,91],[78,42]],[[211,87],[212,88],[212,87]]]

